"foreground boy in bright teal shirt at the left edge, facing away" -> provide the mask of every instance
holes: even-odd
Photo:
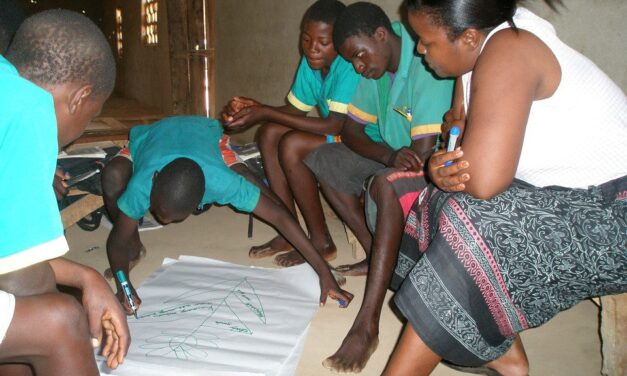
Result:
[[[68,245],[51,185],[59,147],[80,136],[113,90],[115,60],[98,27],[66,10],[26,19],[5,57],[0,331],[8,330],[0,333],[0,374],[96,376],[92,346],[102,344],[110,367],[123,361],[126,317],[96,270],[59,257]],[[57,284],[80,289],[82,305]]]

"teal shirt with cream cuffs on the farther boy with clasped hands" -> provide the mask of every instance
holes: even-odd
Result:
[[[318,106],[320,115],[324,118],[329,116],[329,111],[346,114],[359,79],[353,65],[340,55],[333,60],[324,79],[322,72],[311,69],[303,56],[287,100],[304,112]]]

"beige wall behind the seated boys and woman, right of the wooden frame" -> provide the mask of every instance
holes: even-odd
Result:
[[[351,3],[346,2],[346,3]],[[216,97],[222,107],[234,95],[280,105],[298,64],[299,23],[313,0],[216,0]],[[392,20],[400,0],[375,1]],[[542,1],[529,7],[548,18],[558,35],[597,63],[627,91],[627,1],[566,0],[551,13]],[[240,136],[252,139],[252,130]]]

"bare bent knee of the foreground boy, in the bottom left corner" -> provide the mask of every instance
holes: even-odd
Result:
[[[0,362],[27,363],[37,376],[99,374],[85,312],[59,293],[15,299]]]

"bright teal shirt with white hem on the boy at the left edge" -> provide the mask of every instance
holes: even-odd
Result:
[[[52,188],[58,149],[52,96],[0,56],[0,274],[68,250]]]

